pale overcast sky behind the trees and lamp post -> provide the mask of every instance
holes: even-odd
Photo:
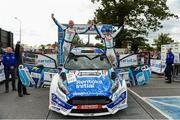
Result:
[[[168,0],[170,10],[180,16],[180,0]],[[73,19],[75,23],[87,23],[94,17],[97,4],[91,0],[0,0],[0,28],[14,33],[14,43],[19,40],[19,22],[22,21],[22,43],[40,45],[57,41],[57,27],[51,19],[51,13],[59,22],[67,23]],[[159,33],[170,33],[180,40],[180,20],[163,23],[164,28],[151,33],[151,42]]]

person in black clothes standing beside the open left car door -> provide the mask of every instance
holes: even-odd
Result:
[[[22,52],[23,52],[23,47],[21,47],[20,42],[17,42],[16,47],[15,47],[15,57],[16,57],[16,63],[17,63],[17,76],[18,76],[18,95],[19,97],[22,97],[24,95],[30,95],[27,93],[26,87],[22,85],[22,82],[19,77],[19,72],[18,72],[18,66],[22,64]],[[23,91],[23,94],[22,94]]]

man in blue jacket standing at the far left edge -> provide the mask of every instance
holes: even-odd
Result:
[[[2,63],[4,65],[4,72],[5,72],[5,92],[9,92],[9,76],[11,75],[12,78],[12,90],[16,91],[15,85],[15,69],[16,69],[16,60],[15,54],[11,47],[6,48],[6,53],[3,55]]]

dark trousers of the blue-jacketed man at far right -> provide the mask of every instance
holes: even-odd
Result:
[[[169,80],[169,82],[172,82],[172,72],[173,72],[173,66],[172,64],[167,64],[166,69],[165,69],[165,76]]]

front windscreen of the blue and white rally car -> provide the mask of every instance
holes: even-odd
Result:
[[[71,54],[64,65],[69,70],[108,70],[111,65],[105,55]]]

